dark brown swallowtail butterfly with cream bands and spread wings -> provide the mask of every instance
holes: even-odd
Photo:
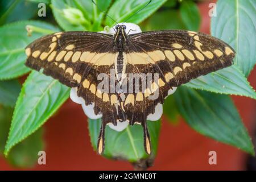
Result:
[[[70,31],[46,35],[26,47],[27,67],[59,80],[71,88],[85,105],[94,104],[94,113],[102,114],[97,151],[104,152],[105,127],[109,123],[128,121],[141,124],[144,149],[151,154],[150,135],[146,119],[163,104],[168,90],[210,72],[229,67],[235,51],[222,40],[194,31],[164,30],[126,34],[125,24],[115,26],[115,34]],[[110,76],[114,70],[114,92]],[[100,86],[102,73],[108,77],[109,86]],[[148,73],[158,75],[147,82],[134,77]],[[130,81],[124,92],[125,78]],[[157,78],[157,79],[155,79]],[[127,85],[127,81],[126,81]],[[135,86],[139,88],[134,92]],[[158,97],[150,99],[158,92]]]

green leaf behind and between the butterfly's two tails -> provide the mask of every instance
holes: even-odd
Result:
[[[151,137],[152,155],[156,154],[160,130],[160,121],[147,121]],[[100,133],[101,119],[89,119],[90,140],[94,150],[97,148],[98,134]],[[143,130],[141,125],[127,126],[121,132],[106,127],[105,151],[106,158],[118,158],[138,162],[139,159],[148,158],[143,146]]]

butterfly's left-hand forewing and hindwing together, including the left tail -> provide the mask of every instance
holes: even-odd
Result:
[[[94,104],[94,113],[102,113],[99,153],[104,150],[104,129],[107,123],[117,122],[117,113],[111,103],[116,94],[98,89],[101,73],[110,80],[110,70],[118,52],[113,51],[112,35],[96,32],[57,32],[44,36],[26,47],[26,65],[56,78],[69,87],[77,87],[77,95],[85,105]]]

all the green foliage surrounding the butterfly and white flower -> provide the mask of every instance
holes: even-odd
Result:
[[[198,31],[200,27],[199,9],[195,2],[190,0],[153,0],[138,14],[135,12],[144,7],[148,0],[97,0],[95,2],[99,9],[89,0],[11,0],[0,2],[0,25],[31,19],[38,9],[39,2],[47,3],[49,5],[47,7],[51,7],[57,24],[64,31],[101,31],[105,26],[113,26],[115,24],[113,20],[101,10],[108,12],[117,22],[123,22],[131,17],[128,22],[141,23],[142,29],[147,31],[164,29]],[[28,9],[28,5],[31,11],[23,11],[24,14],[17,15],[20,8]],[[220,94],[256,98],[254,89],[245,77],[253,69],[256,60],[255,2],[253,0],[218,1],[217,7],[217,16],[212,18],[212,35],[233,46],[237,52],[234,60],[236,65],[201,76],[178,88],[176,93],[164,102],[164,114],[171,122],[176,122],[178,114],[181,114],[199,133],[253,154],[253,145],[236,107],[229,96]],[[30,30],[31,36],[28,36],[26,27]],[[24,66],[26,60],[24,47],[36,38],[59,31],[60,28],[35,20],[9,23],[0,27],[0,80],[3,80],[0,81],[1,105],[15,105],[20,86],[18,81],[11,79],[30,71]],[[28,76],[15,105],[5,146],[5,155],[10,152],[10,162],[19,167],[32,165],[36,159],[35,152],[43,147],[42,131],[36,132],[36,130],[68,97],[69,89],[51,77],[34,71]],[[8,111],[6,107],[0,107],[2,126],[0,126],[0,150],[3,150],[3,143],[7,139],[6,129],[10,125],[12,110],[10,108]],[[2,117],[3,113],[6,113],[5,117]],[[5,122],[1,122],[1,117],[5,118],[2,119]],[[100,119],[94,121],[89,119],[89,132],[94,149],[100,125]],[[148,126],[155,155],[160,121],[148,122]],[[29,135],[31,136],[28,137]],[[24,140],[25,138],[27,139]],[[129,126],[120,133],[107,127],[105,138],[104,156],[107,158],[122,158],[131,162],[148,158],[143,149],[141,126]],[[21,142],[22,140],[24,142]],[[17,143],[19,144],[15,146]],[[12,147],[14,148],[10,151]],[[26,159],[30,159],[29,162]]]

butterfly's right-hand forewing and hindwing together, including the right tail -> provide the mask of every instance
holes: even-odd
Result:
[[[232,65],[235,52],[221,40],[192,31],[151,31],[129,36],[126,73],[153,73],[159,78],[147,85],[147,92],[126,96],[125,110],[130,123],[142,123],[147,150],[146,118],[164,101],[168,90],[189,80]],[[129,78],[128,80],[133,78]],[[142,81],[143,82],[143,81]],[[143,92],[144,91],[144,92]],[[159,92],[156,99],[148,99]],[[148,137],[147,137],[148,136]]]

